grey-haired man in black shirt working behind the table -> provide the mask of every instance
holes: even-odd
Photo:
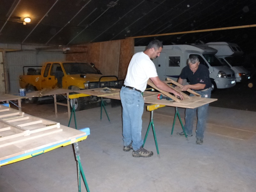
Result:
[[[196,56],[191,56],[188,59],[188,65],[181,71],[178,83],[182,84],[184,79],[188,79],[189,84],[183,85],[181,91],[192,89],[201,95],[201,97],[211,98],[211,80],[209,70],[204,65],[199,65],[199,59]],[[190,94],[193,96],[193,94]],[[204,129],[206,124],[207,109],[209,104],[201,107],[185,110],[185,125],[184,129],[187,136],[192,136],[193,119],[197,110],[196,124],[196,144],[203,144]],[[177,132],[179,136],[185,136],[184,132]]]

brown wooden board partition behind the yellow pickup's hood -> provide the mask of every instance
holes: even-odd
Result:
[[[118,79],[124,79],[134,54],[134,39],[77,45],[70,47],[69,52],[66,60],[94,63],[103,75],[114,75],[113,70]]]

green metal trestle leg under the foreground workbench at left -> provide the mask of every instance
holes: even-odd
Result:
[[[77,161],[77,176],[78,176],[78,191],[81,192],[81,179],[80,179],[80,173],[82,174],[82,178],[84,180],[85,188],[87,192],[90,192],[85,175],[84,175],[84,170],[80,161],[80,152],[78,148],[78,143],[74,143],[74,149],[75,149],[75,154],[76,154],[76,161]]]

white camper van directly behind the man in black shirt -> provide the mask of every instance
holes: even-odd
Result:
[[[134,47],[134,53],[142,52],[145,46]],[[190,56],[199,58],[200,65],[205,65],[210,71],[212,91],[224,89],[236,84],[235,73],[232,69],[221,64],[215,56],[217,50],[207,45],[164,45],[160,56],[153,60],[157,74],[161,80],[167,77],[177,81],[182,68],[187,65]]]

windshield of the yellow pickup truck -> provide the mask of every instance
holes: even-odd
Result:
[[[67,75],[74,74],[98,74],[97,71],[88,63],[63,63]]]

